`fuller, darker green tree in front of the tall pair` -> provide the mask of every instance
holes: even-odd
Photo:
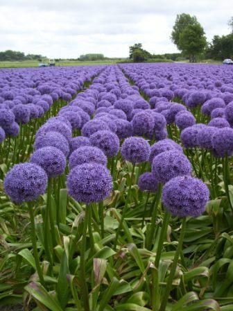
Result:
[[[207,45],[205,32],[199,23],[189,25],[180,33],[180,48],[190,62],[196,62],[196,56],[202,53]]]

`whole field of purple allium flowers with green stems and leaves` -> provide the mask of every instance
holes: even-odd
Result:
[[[233,68],[0,72],[0,306],[233,310]]]

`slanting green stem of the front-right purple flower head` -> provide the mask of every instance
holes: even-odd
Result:
[[[162,303],[161,303],[159,311],[165,311],[166,310],[166,304],[167,304],[167,302],[169,300],[169,294],[171,292],[173,278],[175,276],[175,270],[176,270],[176,267],[178,265],[178,260],[179,260],[179,257],[180,257],[180,253],[182,251],[182,245],[183,245],[183,240],[184,240],[185,228],[186,228],[186,217],[184,217],[182,219],[182,228],[181,228],[181,231],[180,231],[180,239],[179,239],[179,242],[178,242],[178,248],[175,251],[175,257],[174,257],[174,260],[173,260],[173,264],[171,266],[171,272],[169,274],[169,280],[166,283],[166,289],[164,291],[164,296],[162,298]]]

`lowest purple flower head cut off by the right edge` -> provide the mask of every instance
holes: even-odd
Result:
[[[219,128],[212,135],[212,147],[214,155],[223,158],[226,154],[233,154],[233,129]]]

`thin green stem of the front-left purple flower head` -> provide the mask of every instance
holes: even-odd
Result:
[[[36,243],[36,235],[35,235],[35,219],[34,219],[34,213],[33,213],[33,203],[28,202],[28,209],[30,214],[30,220],[31,220],[31,240],[33,244],[33,255],[35,258],[35,267],[37,269],[37,274],[40,278],[40,283],[45,286],[44,283],[44,276],[42,273],[42,268],[40,267],[40,259],[37,251],[37,243]]]

